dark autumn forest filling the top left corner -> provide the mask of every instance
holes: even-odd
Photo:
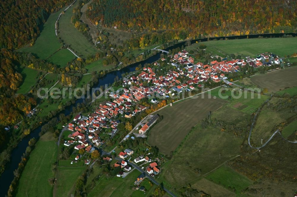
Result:
[[[72,0],[7,0],[0,6],[0,48],[16,49],[33,45],[40,27],[50,13],[56,12]]]

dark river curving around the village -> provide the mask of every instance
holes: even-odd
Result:
[[[281,37],[282,35],[284,35],[284,33],[255,34],[255,35],[249,35],[249,38],[258,38],[259,36],[263,36],[263,37],[267,37],[267,38],[270,38],[270,37],[277,38],[277,37]],[[286,33],[286,35],[293,35],[294,37],[296,37],[297,36],[297,33]],[[222,39],[228,38],[229,40],[232,40],[232,39],[244,39],[244,38],[247,38],[247,35],[228,36],[228,37],[224,36],[224,37],[214,37],[214,38],[201,38],[201,39],[192,40],[191,43],[195,43],[196,41],[204,42],[204,41],[207,41],[208,39],[209,40],[214,40],[214,39],[219,40],[221,38]],[[179,42],[179,43],[176,43],[175,45],[170,46],[170,47],[168,47],[168,48],[166,48],[164,50],[165,51],[172,50],[174,48],[181,47],[185,43],[186,43],[186,41]],[[135,71],[135,68],[139,64],[143,65],[145,63],[156,62],[160,58],[160,55],[161,55],[161,52],[157,53],[154,56],[149,57],[146,60],[143,60],[143,61],[140,61],[140,62],[136,62],[134,64],[130,64],[129,66],[127,66],[125,68],[122,68],[121,70],[115,70],[115,71],[109,72],[105,76],[101,77],[98,80],[98,83],[97,83],[97,85],[94,88],[99,88],[101,85],[104,86],[105,84],[109,84],[109,83],[112,84],[114,82],[114,79],[116,78],[116,76],[118,76],[119,78],[121,78],[122,77],[121,75],[123,73]],[[82,103],[83,100],[84,99],[77,99],[74,104],[66,107],[66,109],[64,109],[59,114],[64,113],[66,116],[69,115],[72,112],[72,107],[73,106],[76,106],[78,103]],[[57,116],[59,116],[59,114],[57,114]],[[4,172],[2,173],[2,175],[0,177],[0,188],[1,188],[1,190],[0,190],[0,196],[5,196],[7,194],[7,191],[9,189],[10,183],[12,182],[12,180],[14,178],[13,171],[18,168],[18,163],[20,162],[21,156],[26,151],[26,147],[28,146],[29,140],[31,138],[36,138],[36,139],[39,138],[39,135],[38,134],[40,133],[42,126],[43,125],[37,127],[28,136],[24,137],[22,139],[22,141],[20,141],[20,143],[18,143],[18,145],[13,149],[13,151],[11,153],[10,162],[7,163],[7,165],[6,165],[5,169],[4,169]],[[38,165],[38,164],[36,164],[36,165]],[[34,173],[34,172],[32,172],[32,173]]]

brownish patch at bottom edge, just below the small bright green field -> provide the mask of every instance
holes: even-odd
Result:
[[[217,197],[235,196],[235,193],[204,178],[198,181],[197,183],[195,183],[194,185],[192,185],[192,188],[197,190],[202,190],[211,196],[217,196]]]

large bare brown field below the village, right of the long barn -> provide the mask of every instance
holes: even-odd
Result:
[[[226,101],[222,99],[186,99],[155,112],[163,120],[150,131],[148,141],[157,146],[163,154],[170,155],[188,134],[191,127],[205,118],[209,111],[215,111]]]

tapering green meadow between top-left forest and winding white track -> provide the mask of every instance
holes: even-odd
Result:
[[[55,34],[55,22],[61,13],[61,10],[50,14],[33,46],[23,47],[19,49],[19,51],[33,53],[40,59],[47,59],[50,55],[60,49],[62,44],[58,41]]]

